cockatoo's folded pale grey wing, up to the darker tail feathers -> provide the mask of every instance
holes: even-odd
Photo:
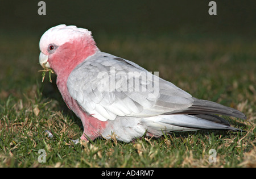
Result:
[[[171,82],[104,52],[97,52],[78,65],[67,86],[82,109],[102,121],[183,111],[194,101]]]

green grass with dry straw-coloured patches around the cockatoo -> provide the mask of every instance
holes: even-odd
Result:
[[[5,35],[3,35],[5,34]],[[234,107],[247,119],[224,116],[247,132],[175,132],[131,143],[96,139],[68,144],[82,125],[67,109],[56,78],[42,83],[40,35],[1,33],[0,167],[247,167],[256,166],[255,39],[208,35],[94,34],[101,51],[132,60],[194,97]],[[49,130],[53,138],[44,132]],[[39,149],[46,163],[39,163]],[[216,149],[217,163],[209,163]]]

